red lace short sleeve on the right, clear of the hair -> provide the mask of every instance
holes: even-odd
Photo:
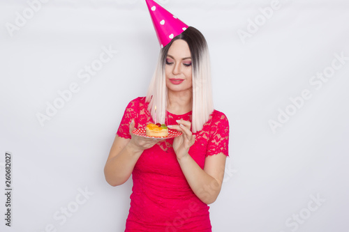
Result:
[[[210,139],[207,144],[207,155],[217,155],[223,153],[228,155],[229,144],[229,122],[225,114],[216,111],[210,130]]]

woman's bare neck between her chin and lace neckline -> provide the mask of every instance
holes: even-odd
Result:
[[[174,92],[168,89],[167,111],[186,114],[193,109],[193,91]]]

